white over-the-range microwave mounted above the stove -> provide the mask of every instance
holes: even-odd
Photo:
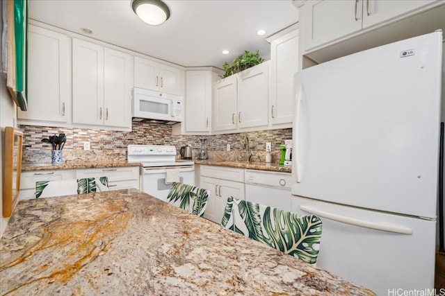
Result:
[[[175,124],[183,121],[181,96],[133,88],[133,121],[154,121]]]

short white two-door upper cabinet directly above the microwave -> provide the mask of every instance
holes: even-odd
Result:
[[[181,96],[181,69],[134,57],[134,87]]]

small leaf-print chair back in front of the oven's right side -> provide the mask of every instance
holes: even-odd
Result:
[[[209,191],[197,186],[179,182],[172,182],[167,201],[188,211],[188,213],[202,217],[209,200]]]

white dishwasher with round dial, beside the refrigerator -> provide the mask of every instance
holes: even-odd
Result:
[[[291,211],[290,173],[245,170],[245,200]]]

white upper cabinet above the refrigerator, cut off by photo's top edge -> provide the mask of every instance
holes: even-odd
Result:
[[[366,28],[384,25],[437,0],[308,0],[302,6],[304,49],[339,40]]]

